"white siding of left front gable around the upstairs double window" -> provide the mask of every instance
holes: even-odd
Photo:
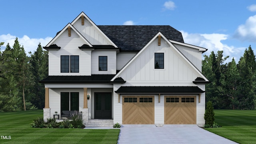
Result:
[[[71,30],[71,36],[68,36],[68,30],[55,41],[59,50],[49,51],[49,76],[80,76],[91,75],[91,50],[80,50],[78,47],[84,44],[84,41]],[[79,56],[79,73],[61,73],[60,56]]]

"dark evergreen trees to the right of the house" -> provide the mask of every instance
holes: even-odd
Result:
[[[202,73],[210,84],[206,84],[206,102],[211,101],[214,109],[252,110],[256,106],[256,60],[251,46],[246,48],[238,63],[223,51],[204,55]]]

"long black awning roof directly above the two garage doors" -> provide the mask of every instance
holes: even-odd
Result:
[[[203,93],[197,86],[121,86],[117,94],[192,94]]]

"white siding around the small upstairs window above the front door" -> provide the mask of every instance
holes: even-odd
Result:
[[[99,71],[99,56],[108,57],[107,71]],[[116,51],[92,51],[92,74],[116,74]]]

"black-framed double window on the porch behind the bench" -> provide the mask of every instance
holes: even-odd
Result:
[[[79,110],[79,92],[60,93],[60,111]]]

